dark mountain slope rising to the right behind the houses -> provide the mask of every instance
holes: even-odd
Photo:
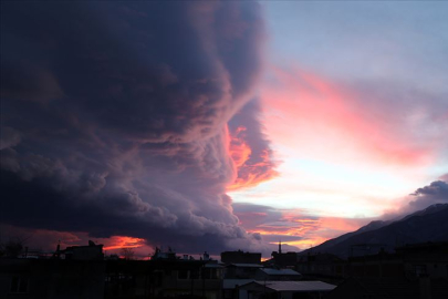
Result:
[[[426,241],[448,241],[448,204],[433,205],[396,220],[372,221],[299,255],[327,252],[346,258],[356,255],[356,250],[375,254],[384,248],[392,252],[397,246]]]

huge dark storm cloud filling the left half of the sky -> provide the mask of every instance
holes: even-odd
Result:
[[[1,221],[183,250],[260,241],[225,194],[225,126],[260,72],[257,3],[6,2],[1,35]]]

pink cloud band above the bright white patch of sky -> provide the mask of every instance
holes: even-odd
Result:
[[[387,95],[300,69],[271,68],[271,75],[261,94],[264,125],[274,143],[296,148],[302,157],[368,158],[393,165],[434,161],[437,136],[416,138],[418,132],[408,130],[406,106],[390,107]]]

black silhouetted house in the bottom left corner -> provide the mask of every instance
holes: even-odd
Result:
[[[103,298],[104,268],[104,260],[1,258],[0,298]]]

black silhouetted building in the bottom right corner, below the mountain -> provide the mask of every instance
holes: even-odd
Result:
[[[406,245],[352,257],[329,298],[448,298],[448,243]]]

